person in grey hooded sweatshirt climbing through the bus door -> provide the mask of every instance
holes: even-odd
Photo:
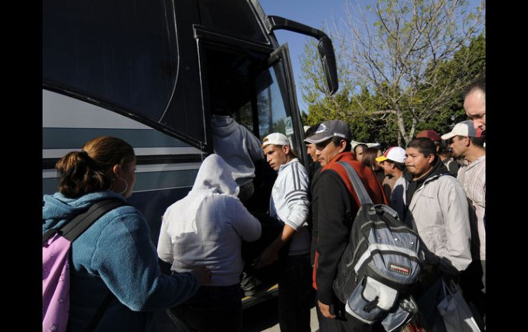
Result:
[[[263,159],[261,142],[235,119],[221,114],[211,115],[213,123],[213,149],[228,164],[232,177],[240,187],[239,199],[247,201],[253,195],[254,161]]]

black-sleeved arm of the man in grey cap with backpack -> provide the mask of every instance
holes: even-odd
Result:
[[[356,203],[355,200],[350,201],[344,183],[339,175],[331,170],[321,174],[317,186],[319,240],[315,248],[318,255],[315,283],[318,301],[329,306],[335,298],[332,285],[337,275],[337,265],[350,237],[352,220],[346,214],[347,205]]]

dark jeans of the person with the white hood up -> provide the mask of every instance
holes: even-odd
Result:
[[[182,331],[240,331],[240,283],[230,286],[202,286],[188,301],[168,309],[167,314]]]

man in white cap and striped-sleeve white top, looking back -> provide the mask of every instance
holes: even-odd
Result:
[[[282,133],[270,133],[263,139],[262,149],[266,160],[278,172],[272,196],[269,199],[269,216],[284,224],[283,231],[264,249],[256,260],[261,268],[279,260],[278,320],[280,331],[311,331],[310,308],[313,303],[310,285],[310,232],[306,169],[291,149],[288,138]],[[287,255],[278,255],[289,242]]]

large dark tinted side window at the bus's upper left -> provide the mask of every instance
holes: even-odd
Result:
[[[159,120],[176,84],[170,1],[43,2],[43,79]]]

